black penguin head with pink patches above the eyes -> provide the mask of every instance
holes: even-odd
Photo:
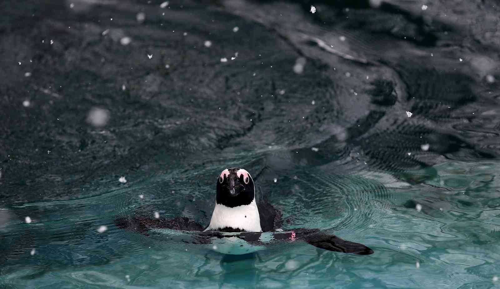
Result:
[[[225,169],[217,177],[216,204],[234,208],[249,205],[254,198],[255,186],[245,169]]]

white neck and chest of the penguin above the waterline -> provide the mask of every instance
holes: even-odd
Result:
[[[245,230],[248,232],[261,232],[260,218],[255,200],[249,205],[229,208],[215,204],[210,224],[205,231],[217,231],[224,227]]]

